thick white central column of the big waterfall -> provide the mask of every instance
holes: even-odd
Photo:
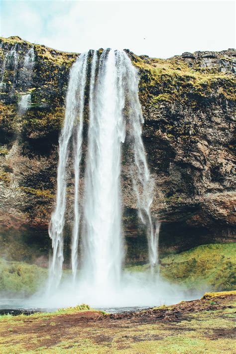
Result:
[[[94,87],[93,68],[90,88],[83,272],[90,282],[105,287],[119,282],[123,257],[119,175],[125,130],[118,55],[103,52],[97,84]]]

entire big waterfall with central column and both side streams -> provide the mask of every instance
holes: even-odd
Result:
[[[82,198],[80,163],[85,115],[89,123]],[[124,256],[120,171],[125,136],[134,196],[147,230],[149,261],[151,265],[158,263],[159,224],[150,211],[153,180],[141,138],[142,123],[137,70],[128,55],[112,49],[81,54],[70,71],[65,121],[59,138],[56,207],[49,227],[53,248],[49,288],[57,286],[62,276],[71,164],[74,166],[73,281],[77,279],[79,266],[79,279],[90,284],[94,291],[119,284]]]

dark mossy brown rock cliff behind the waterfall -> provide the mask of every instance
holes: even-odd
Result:
[[[55,200],[58,135],[69,69],[78,54],[34,45],[33,72],[28,80],[23,65],[32,44],[19,37],[1,38],[0,43],[1,254],[10,260],[30,261],[35,259],[29,256],[27,240],[36,258],[49,247],[47,227]],[[7,54],[13,48],[16,64]],[[162,221],[161,251],[232,240],[236,51],[183,53],[166,60],[126,52],[139,70],[143,140],[155,181],[152,213]],[[18,103],[23,94],[30,94],[31,103],[20,115]],[[88,119],[85,135],[87,124]],[[136,215],[125,151],[122,166],[127,262],[144,262],[145,235]],[[73,178],[71,174],[68,201]],[[68,213],[67,231],[70,219]],[[68,253],[69,243],[68,239]]]

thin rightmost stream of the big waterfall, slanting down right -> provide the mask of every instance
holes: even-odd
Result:
[[[132,66],[127,56],[124,57],[124,60],[126,67],[127,105],[129,107],[128,121],[132,126],[130,136],[133,142],[133,154],[136,166],[136,168],[131,167],[131,175],[137,198],[139,217],[147,228],[149,262],[153,266],[158,263],[157,236],[159,235],[159,224],[154,223],[152,220],[150,209],[153,198],[154,181],[148,169],[146,153],[142,141],[142,124],[144,119],[138,98],[139,79],[137,70]]]

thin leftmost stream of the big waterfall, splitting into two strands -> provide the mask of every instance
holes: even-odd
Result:
[[[59,163],[57,170],[56,208],[51,216],[49,236],[52,239],[53,256],[49,270],[49,289],[58,286],[62,276],[63,265],[63,228],[65,225],[67,162],[70,152],[70,141],[74,139],[75,162],[75,203],[79,193],[79,161],[83,126],[84,83],[87,71],[88,54],[81,54],[70,71],[69,86],[66,96],[66,113],[64,126],[59,138]],[[78,100],[79,97],[79,100]],[[75,207],[75,228],[73,231],[73,254],[77,249],[77,230],[79,227],[79,209]],[[73,255],[74,267],[77,255]]]

